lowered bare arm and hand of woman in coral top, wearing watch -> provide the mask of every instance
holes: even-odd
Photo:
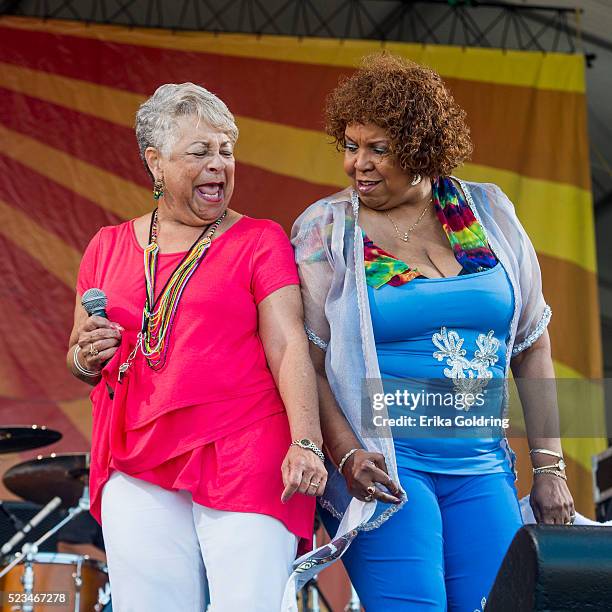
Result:
[[[285,404],[291,437],[293,440],[308,438],[321,448],[317,388],[308,356],[299,287],[291,285],[274,291],[260,302],[258,315],[259,336]],[[291,446],[282,469],[283,501],[296,491],[306,495],[323,494],[327,471],[312,451]]]

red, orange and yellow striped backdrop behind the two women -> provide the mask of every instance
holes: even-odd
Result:
[[[345,185],[321,131],[325,95],[374,42],[212,35],[0,19],[0,421],[90,438],[88,389],[64,366],[80,253],[103,224],[152,206],[134,113],[165,82],[193,81],[237,116],[233,206],[287,229]],[[438,70],[468,112],[475,143],[458,174],[498,183],[540,256],[560,377],[601,376],[582,56],[387,44]],[[590,455],[565,441],[569,475],[592,514]],[[528,490],[524,444],[521,493]],[[21,457],[5,456],[6,468]]]

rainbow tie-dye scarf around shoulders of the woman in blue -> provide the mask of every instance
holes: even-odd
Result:
[[[472,274],[494,267],[497,259],[487,244],[484,231],[450,177],[433,181],[432,202],[463,273]],[[421,275],[416,268],[395,259],[365,235],[364,262],[368,285],[375,289],[385,284],[398,287]]]

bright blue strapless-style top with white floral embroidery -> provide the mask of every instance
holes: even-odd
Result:
[[[368,286],[368,298],[398,466],[511,472],[502,411],[514,298],[503,266]]]

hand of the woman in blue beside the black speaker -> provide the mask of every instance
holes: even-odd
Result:
[[[575,510],[567,482],[554,474],[534,474],[529,503],[538,524],[569,525]]]

